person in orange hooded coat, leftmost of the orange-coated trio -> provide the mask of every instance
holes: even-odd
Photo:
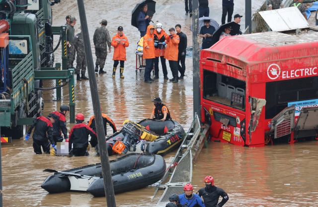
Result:
[[[143,58],[146,60],[146,68],[145,68],[145,83],[152,83],[154,79],[150,77],[151,71],[154,67],[155,60],[155,42],[154,42],[154,31],[155,27],[149,25],[147,27],[147,33],[144,36],[144,49],[143,49]]]

